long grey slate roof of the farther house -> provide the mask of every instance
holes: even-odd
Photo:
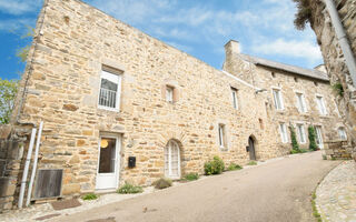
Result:
[[[322,72],[319,70],[304,69],[300,67],[284,64],[280,62],[275,62],[275,61],[270,61],[270,60],[266,60],[266,59],[261,59],[261,58],[257,58],[257,57],[251,57],[251,56],[247,56],[247,54],[243,54],[243,53],[239,53],[236,56],[238,56],[240,59],[248,61],[248,62],[251,62],[254,64],[269,67],[269,68],[283,70],[286,72],[291,72],[294,74],[308,77],[308,78],[313,78],[313,79],[317,79],[317,80],[329,81],[327,73]]]

